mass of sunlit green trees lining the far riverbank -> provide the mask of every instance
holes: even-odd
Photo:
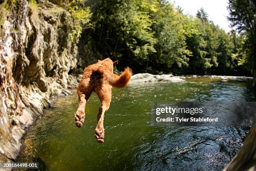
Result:
[[[104,0],[94,15],[102,54],[140,72],[190,68],[192,74],[207,74],[245,64],[241,55],[234,59],[238,49],[231,36],[208,21],[203,9],[192,17],[167,0]]]

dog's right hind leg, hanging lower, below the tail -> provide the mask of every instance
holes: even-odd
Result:
[[[108,111],[110,102],[111,102],[111,86],[108,84],[105,84],[103,87],[100,87],[100,89],[97,89],[96,93],[100,98],[101,107],[99,108],[99,112],[97,114],[97,126],[95,128],[95,138],[99,143],[103,143],[104,134],[105,134],[103,120],[104,120],[104,113],[105,111]]]

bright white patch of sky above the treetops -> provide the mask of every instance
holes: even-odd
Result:
[[[212,20],[225,32],[229,32],[230,22],[227,19],[228,16],[228,1],[227,0],[169,0],[174,5],[179,5],[183,9],[184,14],[190,14],[195,16],[197,10],[201,7],[205,9],[208,14],[208,20]]]

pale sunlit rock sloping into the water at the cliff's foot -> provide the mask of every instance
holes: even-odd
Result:
[[[71,79],[72,78],[72,79]],[[53,105],[52,100],[60,96],[72,94],[70,89],[74,89],[78,83],[75,77],[70,77],[69,81],[72,87],[67,86],[64,88],[60,84],[54,82],[49,84],[49,92],[41,92],[38,87],[31,86],[30,89],[26,87],[19,87],[19,94],[14,94],[20,98],[15,102],[22,108],[19,111],[13,109],[12,112],[8,113],[8,107],[2,106],[1,114],[1,141],[0,141],[0,161],[12,162],[15,161],[20,147],[22,146],[22,137],[26,133],[26,130],[44,114],[44,109]],[[75,85],[75,86],[74,86]],[[0,101],[6,100],[7,97],[4,95],[0,98]],[[9,101],[10,103],[10,101]],[[3,103],[2,103],[3,104]],[[16,111],[15,111],[16,110]],[[13,113],[19,112],[19,115],[15,116]]]

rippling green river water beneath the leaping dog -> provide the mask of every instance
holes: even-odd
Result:
[[[130,84],[114,89],[105,113],[104,144],[94,130],[96,94],[86,104],[85,123],[74,124],[77,94],[54,100],[27,135],[20,161],[41,170],[222,170],[241,148],[248,128],[153,127],[151,102],[255,101],[250,82],[190,78],[186,82]]]

